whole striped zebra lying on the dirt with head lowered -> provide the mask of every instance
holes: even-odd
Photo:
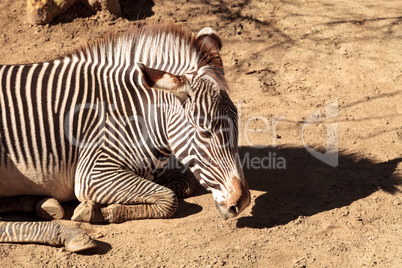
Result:
[[[169,218],[198,181],[223,219],[250,204],[222,41],[133,26],[52,61],[0,66],[0,212],[119,223]],[[180,165],[167,165],[174,155]],[[0,242],[96,246],[57,221],[3,222]]]

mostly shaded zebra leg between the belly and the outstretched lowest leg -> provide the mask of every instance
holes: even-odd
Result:
[[[61,219],[64,210],[60,203],[51,197],[41,196],[14,196],[0,199],[0,213],[26,212],[36,213],[44,220]]]

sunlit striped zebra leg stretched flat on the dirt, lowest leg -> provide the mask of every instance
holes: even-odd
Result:
[[[1,242],[64,245],[71,252],[96,247],[96,243],[85,232],[57,222],[2,222],[0,223]]]

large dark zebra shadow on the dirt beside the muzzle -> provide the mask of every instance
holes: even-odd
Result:
[[[239,228],[287,224],[299,216],[347,206],[378,190],[394,194],[402,182],[396,171],[402,158],[376,163],[340,152],[338,166],[332,167],[305,148],[242,147],[240,159],[250,190],[264,193],[255,198],[252,216],[238,219]]]

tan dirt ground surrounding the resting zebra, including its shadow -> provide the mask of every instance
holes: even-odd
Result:
[[[31,26],[25,0],[0,0],[0,64],[50,60],[144,21],[211,26],[252,204],[223,221],[199,187],[172,219],[108,225],[69,221],[67,204],[60,222],[97,249],[0,244],[1,267],[402,267],[400,0],[120,3],[121,18],[75,6]]]

